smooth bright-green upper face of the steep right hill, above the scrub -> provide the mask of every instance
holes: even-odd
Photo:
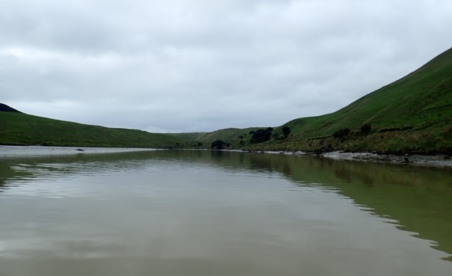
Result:
[[[304,137],[330,135],[341,128],[420,130],[451,122],[452,48],[423,67],[328,115],[296,119],[286,125]]]

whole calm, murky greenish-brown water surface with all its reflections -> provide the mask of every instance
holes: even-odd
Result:
[[[450,169],[6,149],[1,276],[452,275]]]

